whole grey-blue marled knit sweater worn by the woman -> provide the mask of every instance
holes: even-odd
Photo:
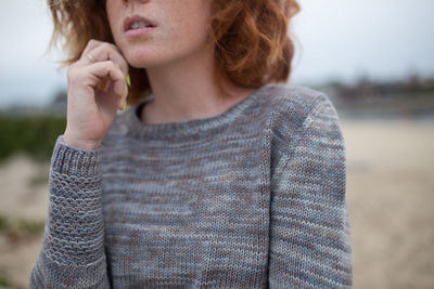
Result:
[[[30,288],[348,288],[336,110],[268,84],[225,113],[119,114],[92,150],[58,137]]]

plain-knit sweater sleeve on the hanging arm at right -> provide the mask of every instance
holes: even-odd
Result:
[[[269,288],[350,288],[345,146],[326,95],[298,135],[271,180]]]

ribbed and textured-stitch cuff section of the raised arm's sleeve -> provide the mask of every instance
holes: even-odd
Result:
[[[103,255],[102,146],[81,149],[56,140],[51,159],[44,252],[61,264],[87,265]]]

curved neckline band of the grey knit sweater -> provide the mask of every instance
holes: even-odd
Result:
[[[148,101],[144,100],[136,105],[127,108],[126,124],[128,126],[129,133],[135,136],[143,137],[177,137],[177,136],[191,136],[200,132],[218,129],[227,126],[235,120],[243,111],[251,106],[255,100],[260,95],[268,84],[265,84],[254,91],[251,95],[232,105],[226,111],[209,118],[199,118],[187,121],[176,121],[166,123],[151,123],[146,124],[138,117],[140,107]]]

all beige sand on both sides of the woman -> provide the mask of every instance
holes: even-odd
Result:
[[[434,288],[434,121],[341,119],[355,288]],[[0,215],[43,222],[49,165],[0,167]],[[41,237],[0,234],[0,278],[28,288]],[[0,286],[1,287],[1,286]]]

